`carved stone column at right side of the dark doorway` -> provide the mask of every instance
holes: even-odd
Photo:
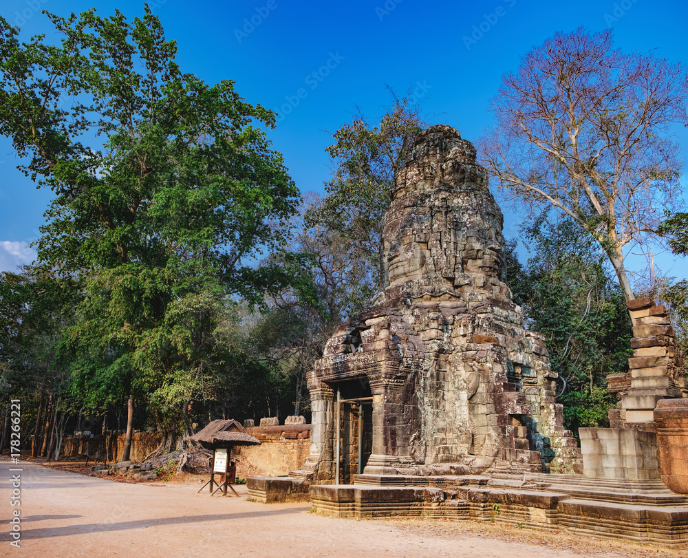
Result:
[[[370,380],[373,394],[373,448],[363,473],[396,475],[400,457],[407,457],[409,436],[404,423],[403,380]]]

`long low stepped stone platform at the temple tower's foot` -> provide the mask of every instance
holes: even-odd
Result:
[[[356,484],[311,486],[310,498],[316,513],[333,517],[474,519],[659,544],[688,542],[688,497],[655,480],[360,475]]]

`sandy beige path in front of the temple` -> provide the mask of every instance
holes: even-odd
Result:
[[[21,471],[21,548],[10,546],[8,471]],[[622,541],[571,547],[548,535],[510,537],[495,526],[354,521],[308,513],[308,504],[254,504],[196,494],[198,484],[122,484],[0,460],[0,555],[30,557],[261,556],[565,558],[662,556],[657,547]],[[467,523],[467,522],[462,522]],[[493,532],[491,532],[491,530]],[[526,539],[523,541],[522,539]],[[560,539],[561,537],[556,537]],[[567,542],[568,541],[568,542]],[[543,544],[544,543],[544,544]],[[563,548],[562,548],[563,546]],[[566,548],[566,547],[570,548]],[[613,550],[612,550],[613,549]],[[574,552],[577,550],[577,552]],[[671,552],[671,555],[678,556]]]

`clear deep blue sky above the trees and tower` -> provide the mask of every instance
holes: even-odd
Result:
[[[611,27],[623,50],[653,50],[688,63],[688,3],[681,1],[155,0],[149,5],[166,36],[178,41],[182,71],[208,83],[233,79],[250,103],[283,114],[269,137],[302,192],[323,190],[331,133],[357,108],[381,116],[391,100],[388,86],[416,94],[431,124],[452,125],[476,140],[491,123],[488,102],[501,76],[557,31]],[[0,14],[25,36],[50,36],[41,9],[66,16],[92,6],[102,16],[118,8],[130,19],[143,11],[142,2],[130,0],[3,0]],[[688,133],[677,133],[688,155]],[[32,260],[29,245],[51,199],[50,191],[37,191],[16,164],[11,143],[0,138],[0,270]],[[505,236],[517,236],[523,217],[506,207],[504,213]],[[681,259],[657,253],[655,261],[669,275],[687,275]],[[641,259],[629,264],[643,266]]]

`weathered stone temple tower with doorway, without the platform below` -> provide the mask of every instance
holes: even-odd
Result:
[[[582,471],[505,282],[502,224],[473,144],[424,131],[385,214],[383,289],[308,376],[311,453],[292,477]]]

